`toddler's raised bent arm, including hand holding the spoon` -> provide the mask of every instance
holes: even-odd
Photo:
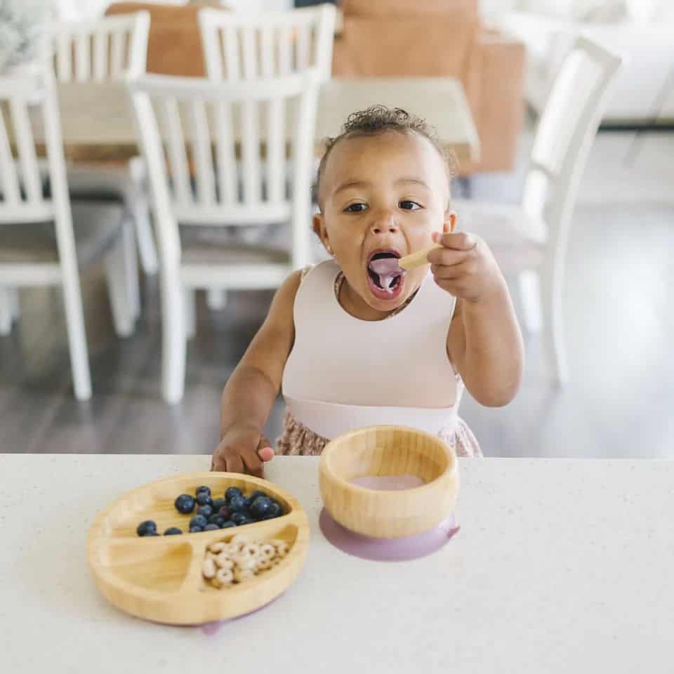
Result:
[[[429,254],[435,281],[456,296],[447,354],[477,402],[508,404],[520,388],[524,346],[508,286],[484,242],[444,234]]]

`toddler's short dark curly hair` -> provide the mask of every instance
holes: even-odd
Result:
[[[347,118],[342,133],[334,138],[324,140],[325,152],[318,166],[316,182],[313,186],[313,196],[319,203],[319,192],[321,187],[321,178],[325,172],[325,166],[328,157],[341,140],[347,138],[357,138],[359,136],[377,136],[385,131],[395,131],[396,133],[416,133],[432,143],[442,157],[447,167],[447,180],[451,184],[452,178],[456,175],[458,163],[454,152],[444,147],[437,138],[435,129],[426,123],[421,117],[402,110],[399,107],[386,107],[385,105],[373,105],[365,110],[352,112]]]

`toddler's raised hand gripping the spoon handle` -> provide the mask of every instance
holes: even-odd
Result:
[[[442,248],[428,253],[435,282],[448,293],[469,302],[479,302],[503,287],[496,260],[482,239],[467,234],[433,234]]]

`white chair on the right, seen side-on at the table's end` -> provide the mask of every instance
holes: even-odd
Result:
[[[601,46],[577,39],[538,122],[522,204],[454,201],[459,227],[480,235],[505,276],[519,286],[513,291],[520,294],[529,328],[540,326],[542,310],[543,338],[557,383],[568,377],[562,299],[569,226],[620,64],[618,56]]]

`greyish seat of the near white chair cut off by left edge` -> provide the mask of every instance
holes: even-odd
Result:
[[[72,204],[77,263],[90,266],[110,250],[122,226],[121,207],[112,204]],[[0,264],[58,263],[53,222],[0,225]]]

